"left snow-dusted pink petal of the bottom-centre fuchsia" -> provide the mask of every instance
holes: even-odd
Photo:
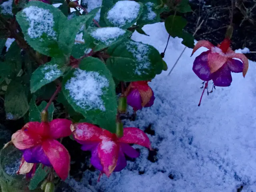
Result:
[[[74,138],[80,141],[101,141],[100,136],[106,136],[102,128],[90,123],[77,123],[71,125],[70,128]]]

